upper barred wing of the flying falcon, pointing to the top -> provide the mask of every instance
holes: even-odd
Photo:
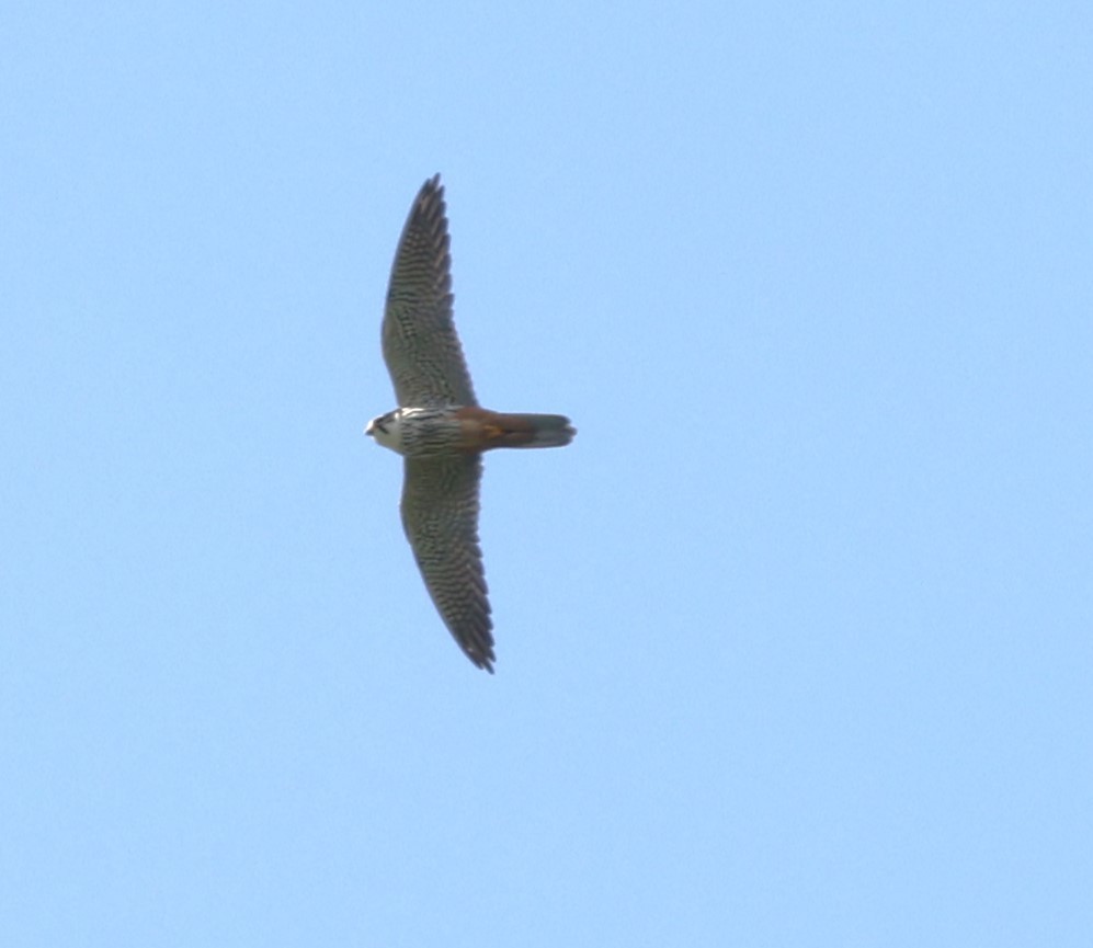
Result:
[[[402,228],[384,310],[384,361],[400,406],[478,404],[452,319],[452,258],[441,178]]]

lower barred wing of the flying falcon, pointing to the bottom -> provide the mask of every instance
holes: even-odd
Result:
[[[418,568],[460,648],[493,671],[493,624],[478,545],[479,455],[407,458],[402,527]]]

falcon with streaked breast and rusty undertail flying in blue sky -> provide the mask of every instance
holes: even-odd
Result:
[[[440,174],[410,207],[391,265],[382,344],[398,408],[365,434],[402,456],[402,528],[436,610],[464,653],[493,674],[493,623],[478,537],[482,454],[568,445],[560,414],[504,413],[475,397],[453,318]]]

